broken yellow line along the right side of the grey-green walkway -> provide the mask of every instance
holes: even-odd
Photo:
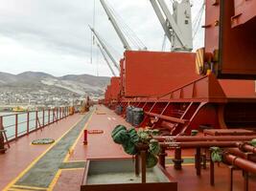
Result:
[[[82,129],[80,136],[76,139],[76,141],[73,143],[73,145],[70,147],[69,150],[74,150],[74,148],[76,147],[76,145],[77,145],[79,139],[81,138],[81,135],[82,135],[82,133],[83,133],[83,130],[87,128],[88,123],[90,122],[90,120],[91,120],[91,118],[92,118],[94,112],[95,112],[95,110],[92,112],[91,116],[88,118],[87,122],[85,123],[84,128]],[[63,162],[67,162],[67,160],[68,160],[69,158],[70,158],[70,154],[67,153],[67,155],[66,155],[65,159],[63,160]],[[84,169],[84,168],[83,168],[83,169]],[[62,170],[64,170],[64,169],[59,169],[59,170],[58,170],[58,173],[56,174],[54,180],[52,180],[52,182],[50,183],[50,186],[49,186],[49,188],[47,189],[47,191],[52,191],[52,190],[54,189],[55,185],[56,185],[57,182],[58,182],[58,179],[59,179],[59,177],[60,177],[60,174],[61,174]]]

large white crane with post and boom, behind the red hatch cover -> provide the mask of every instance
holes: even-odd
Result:
[[[175,1],[173,14],[164,0],[151,0],[151,6],[172,44],[172,51],[192,52],[193,32],[190,1],[182,0],[180,3]]]

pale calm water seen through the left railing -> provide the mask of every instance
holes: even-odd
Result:
[[[0,113],[0,116],[3,117],[4,129],[7,131],[7,137],[9,139],[15,137],[15,114],[18,114],[18,117],[17,117],[18,135],[20,136],[20,135],[27,133],[27,126],[28,126],[27,113],[13,113],[13,112],[12,113]],[[53,121],[52,116],[53,116],[53,113],[51,111],[50,122]],[[43,113],[38,112],[38,119],[39,119],[40,124],[42,124],[42,118],[43,118]],[[45,112],[44,121],[45,121],[45,124],[48,123],[48,112]],[[30,129],[30,131],[35,129],[35,112],[30,113],[29,129]]]

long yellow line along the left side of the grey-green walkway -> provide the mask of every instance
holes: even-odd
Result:
[[[60,138],[58,138],[51,146],[49,146],[48,149],[46,149],[41,155],[39,155],[36,159],[34,159],[30,165],[25,168],[25,170],[23,170],[14,180],[12,180],[4,189],[3,191],[8,191],[12,185],[19,180],[21,177],[23,177],[34,165],[35,163],[41,159],[48,151],[50,151],[57,143],[58,141],[63,138],[65,135],[67,135],[79,122],[81,122],[82,117],[80,117],[80,119],[66,132],[64,133]],[[47,188],[46,188],[47,189]]]

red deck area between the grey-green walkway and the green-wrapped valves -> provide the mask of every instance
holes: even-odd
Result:
[[[89,134],[88,144],[85,146],[83,145],[83,136],[81,135],[67,162],[85,161],[86,159],[130,158],[130,156],[124,153],[123,148],[115,144],[111,139],[111,131],[118,124],[130,127],[124,118],[118,117],[113,111],[108,110],[104,106],[97,106],[97,111],[94,112],[87,123],[87,130],[103,130],[104,133]],[[82,175],[83,168],[61,171],[54,190],[80,190]],[[67,182],[72,182],[74,186],[68,185]]]

